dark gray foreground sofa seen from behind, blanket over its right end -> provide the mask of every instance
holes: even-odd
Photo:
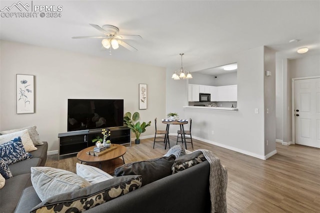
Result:
[[[86,212],[210,212],[209,172],[209,163],[203,161]],[[34,188],[27,187],[16,212],[29,212],[40,202]]]

